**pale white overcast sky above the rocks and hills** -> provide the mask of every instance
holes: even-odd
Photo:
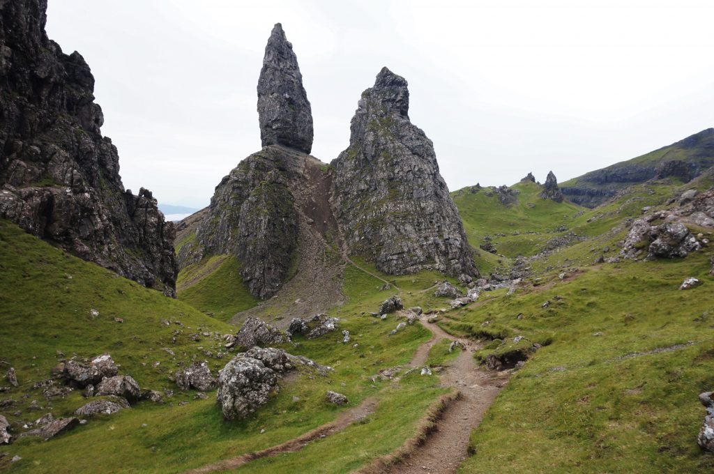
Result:
[[[47,31],[96,79],[124,186],[205,206],[261,147],[256,84],[281,22],[315,123],[348,146],[382,66],[455,190],[559,181],[714,126],[714,1],[49,0]]]

